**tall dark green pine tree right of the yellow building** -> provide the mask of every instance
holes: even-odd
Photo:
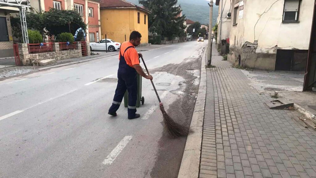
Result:
[[[149,31],[151,33],[168,37],[184,36],[185,15],[180,16],[181,6],[178,0],[139,0],[140,4],[150,10]]]

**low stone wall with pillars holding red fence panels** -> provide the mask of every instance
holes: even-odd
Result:
[[[87,42],[87,54],[90,55],[89,43]],[[21,65],[29,66],[33,62],[40,62],[40,60],[54,59],[54,60],[64,60],[71,58],[82,57],[81,43],[76,44],[76,49],[69,49],[60,51],[59,43],[53,43],[53,51],[46,53],[35,53],[29,54],[27,44],[19,44],[19,55],[21,60]]]

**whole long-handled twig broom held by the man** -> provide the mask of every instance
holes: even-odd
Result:
[[[145,64],[145,61],[144,61],[143,57],[141,57],[141,58],[142,58],[144,66],[146,68],[147,74],[149,75],[149,71],[148,71],[147,66]],[[163,123],[167,127],[167,130],[168,130],[170,136],[173,138],[187,136],[190,129],[183,126],[183,125],[180,125],[180,124],[174,122],[173,119],[167,114],[167,112],[165,111],[165,109],[163,107],[163,104],[161,103],[161,100],[160,100],[159,95],[157,93],[156,87],[153,83],[153,80],[150,80],[150,81],[154,87],[156,96],[157,96],[158,101],[159,101],[160,110],[161,110],[162,116],[163,116]]]

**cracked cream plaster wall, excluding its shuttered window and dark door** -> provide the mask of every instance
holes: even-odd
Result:
[[[282,23],[284,0],[244,0],[243,18],[231,28],[228,60],[238,63],[238,55],[246,56],[242,65],[274,70],[277,49],[308,49],[313,5],[311,0],[301,1],[299,22]],[[247,47],[247,43],[258,47]]]

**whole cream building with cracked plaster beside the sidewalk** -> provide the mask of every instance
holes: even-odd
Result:
[[[305,70],[314,1],[232,2],[228,60],[264,70]]]

